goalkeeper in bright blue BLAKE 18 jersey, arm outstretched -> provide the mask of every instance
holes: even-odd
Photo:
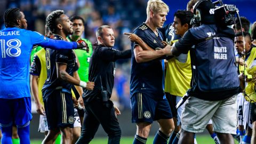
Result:
[[[29,55],[33,45],[53,49],[85,47],[81,42],[49,39],[35,31],[26,30],[25,15],[18,8],[4,12],[5,29],[0,30],[0,127],[2,143],[11,143],[13,121],[17,125],[20,143],[29,142],[31,99],[29,91]]]

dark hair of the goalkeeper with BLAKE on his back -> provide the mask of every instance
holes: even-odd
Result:
[[[18,25],[17,19],[21,18],[20,9],[9,8],[4,12],[4,25],[6,28]]]

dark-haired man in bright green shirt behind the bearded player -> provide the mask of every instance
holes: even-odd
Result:
[[[89,39],[82,38],[82,34],[84,32],[84,19],[79,17],[78,15],[74,15],[70,18],[70,21],[73,22],[73,34],[67,37],[69,42],[76,42],[79,40],[85,41],[85,43],[89,46],[89,52],[84,50],[73,50],[75,52],[77,63],[78,63],[78,75],[81,81],[88,82],[88,74],[89,74],[89,63],[92,55],[92,43]],[[81,99],[79,105],[83,107],[83,99]],[[81,122],[83,122],[84,110],[77,109],[79,118]],[[82,124],[82,123],[81,123]]]

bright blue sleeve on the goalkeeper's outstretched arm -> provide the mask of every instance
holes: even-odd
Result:
[[[59,49],[76,49],[76,42],[66,42],[62,40],[50,39],[36,31],[29,31],[30,41],[33,45],[40,45],[42,47],[47,47],[54,50]]]

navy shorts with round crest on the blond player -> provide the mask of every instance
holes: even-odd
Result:
[[[132,102],[132,123],[158,121],[159,119],[171,119],[172,113],[166,99],[154,99],[154,95],[146,93],[134,93]]]

